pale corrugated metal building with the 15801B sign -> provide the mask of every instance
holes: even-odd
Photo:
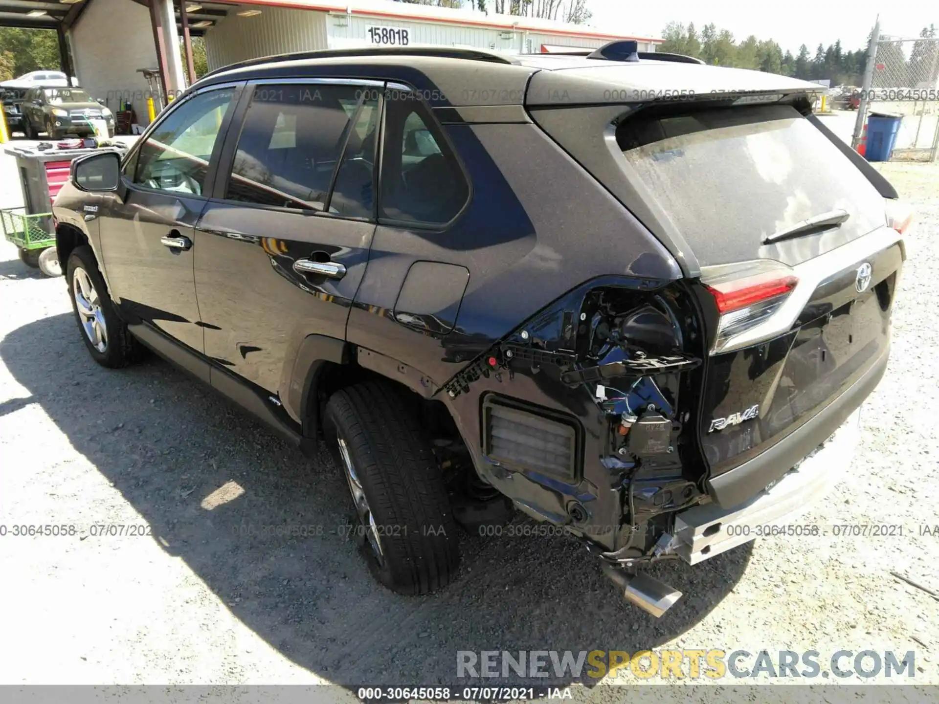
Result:
[[[436,45],[537,54],[565,47],[595,49],[615,39],[638,39],[639,51],[646,52],[662,41],[584,25],[388,0],[248,0],[206,30],[206,54],[208,68],[218,69],[257,56],[316,49]]]

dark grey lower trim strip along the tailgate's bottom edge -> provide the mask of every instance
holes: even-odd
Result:
[[[737,507],[818,448],[874,390],[884,376],[888,357],[889,347],[851,387],[791,435],[740,467],[709,479],[708,492],[716,504],[724,509]]]

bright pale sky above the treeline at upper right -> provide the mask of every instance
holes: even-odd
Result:
[[[916,37],[930,23],[939,27],[939,3],[935,0],[783,0],[772,4],[752,0],[588,0],[588,7],[593,12],[591,24],[597,27],[615,25],[617,31],[658,37],[670,20],[693,22],[699,28],[713,22],[730,29],[738,41],[751,34],[773,38],[783,51],[793,54],[802,43],[815,54],[819,42],[827,46],[838,38],[845,49],[860,49],[878,13],[881,32],[888,35]]]

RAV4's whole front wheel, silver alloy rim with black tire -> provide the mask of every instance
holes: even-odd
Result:
[[[72,251],[66,273],[72,311],[91,357],[112,369],[140,359],[143,347],[117,315],[90,247]]]

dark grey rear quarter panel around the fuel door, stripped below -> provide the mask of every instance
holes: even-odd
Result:
[[[400,360],[442,386],[552,301],[569,294],[572,298],[564,305],[579,310],[585,293],[601,277],[615,277],[618,285],[644,292],[681,278],[666,249],[537,126],[445,129],[472,184],[469,207],[443,231],[377,227],[349,316],[350,343]],[[453,329],[433,316],[423,324],[395,318],[408,271],[417,262],[469,271]],[[532,481],[488,461],[481,448],[487,393],[577,419],[589,473],[585,468],[584,476],[566,483]],[[605,531],[594,539],[609,547],[617,542],[619,528],[611,524],[622,517],[617,482],[623,467],[611,470],[600,464],[608,421],[585,386],[572,388],[559,375],[529,368],[480,379],[454,399],[445,393],[438,397],[450,407],[477,470],[502,493],[530,513],[560,523],[567,521],[571,500],[589,503],[590,520],[604,524]]]

